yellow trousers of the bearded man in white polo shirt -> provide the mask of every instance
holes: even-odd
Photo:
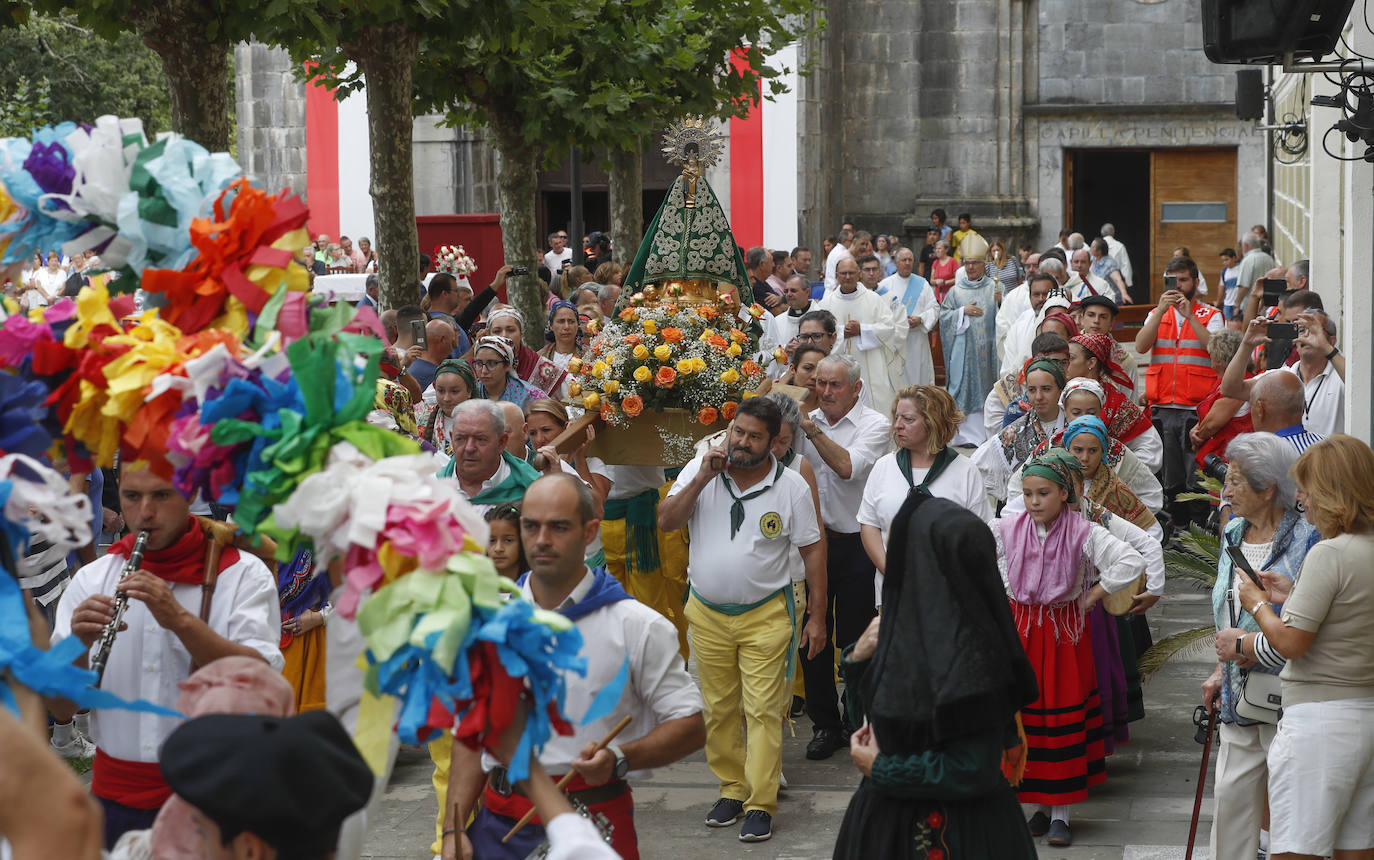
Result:
[[[727,615],[691,596],[686,615],[705,703],[706,764],[720,780],[720,795],[775,815],[782,773],[778,713],[791,688],[785,669],[793,647],[787,606],[776,599]]]

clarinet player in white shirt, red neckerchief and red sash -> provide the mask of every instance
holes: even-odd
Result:
[[[192,670],[221,657],[243,655],[283,665],[276,578],[267,566],[232,547],[214,552],[190,503],[170,481],[137,466],[120,473],[120,501],[132,533],[103,558],[81,567],[58,603],[54,642],[77,636],[89,666],[115,614],[115,593],[128,595],[100,687],[125,699],[176,708]],[[125,574],[136,536],[147,532],[137,570]],[[218,555],[218,578],[202,603],[207,563]],[[71,718],[70,702],[54,702],[58,721]],[[96,746],[91,791],[104,808],[106,849],[128,830],[153,826],[170,794],[158,769],[158,750],[180,721],[128,710],[93,710]]]

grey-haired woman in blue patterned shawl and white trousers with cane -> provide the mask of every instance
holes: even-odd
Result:
[[[1256,572],[1274,572],[1296,580],[1308,550],[1322,537],[1297,511],[1297,484],[1290,474],[1297,451],[1272,433],[1242,433],[1227,446],[1227,456],[1230,468],[1223,495],[1230,500],[1235,518],[1221,532],[1223,547],[1239,547]],[[1265,714],[1242,702],[1249,684],[1256,684],[1252,695],[1246,697],[1250,701],[1254,701],[1260,683],[1274,684],[1260,675],[1274,676],[1283,668],[1283,658],[1276,653],[1272,659],[1250,665],[1253,661],[1239,650],[1242,637],[1260,631],[1237,596],[1238,580],[1243,576],[1223,551],[1212,588],[1217,664],[1202,683],[1202,706],[1217,709],[1221,724],[1213,791],[1216,812],[1212,817],[1212,856],[1219,860],[1249,860],[1264,848],[1260,845],[1260,826],[1268,786],[1267,756],[1278,731],[1276,714],[1264,718]],[[1238,703],[1249,718],[1238,713]]]

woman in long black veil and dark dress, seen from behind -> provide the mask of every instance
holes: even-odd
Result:
[[[1003,762],[1015,773],[1024,761],[1015,714],[1039,691],[988,526],[911,493],[888,544],[882,610],[841,666],[849,713],[867,725],[851,739],[864,780],[835,859],[1033,859]]]

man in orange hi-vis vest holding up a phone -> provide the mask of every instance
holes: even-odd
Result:
[[[1198,403],[1217,383],[1206,343],[1226,321],[1220,310],[1197,301],[1195,262],[1175,257],[1164,273],[1173,275],[1176,286],[1160,295],[1160,306],[1150,312],[1140,334],[1135,335],[1135,350],[1140,354],[1153,350],[1150,367],[1145,371],[1145,398],[1164,440],[1160,477],[1164,492],[1172,497],[1191,484],[1193,442],[1189,431],[1198,422]],[[1180,508],[1175,514],[1175,522],[1183,525],[1189,511]]]

